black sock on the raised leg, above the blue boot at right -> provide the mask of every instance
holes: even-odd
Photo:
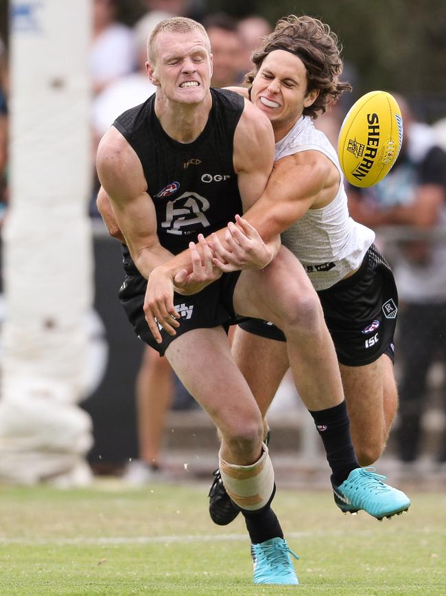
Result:
[[[350,437],[350,419],[347,404],[312,412],[314,423],[324,443],[327,461],[331,467],[331,480],[339,486],[347,479],[351,470],[360,467]]]

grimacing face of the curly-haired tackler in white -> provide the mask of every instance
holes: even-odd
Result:
[[[274,132],[290,130],[310,106],[317,91],[307,93],[307,71],[301,58],[275,49],[266,56],[253,80],[251,101],[265,112]]]

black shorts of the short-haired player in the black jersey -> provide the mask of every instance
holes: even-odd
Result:
[[[139,339],[163,356],[170,342],[191,329],[222,325],[227,331],[230,325],[239,320],[233,309],[233,293],[239,274],[240,272],[223,274],[220,279],[192,296],[175,293],[174,305],[176,311],[180,313],[180,327],[176,329],[176,335],[169,335],[161,328],[163,339],[161,344],[154,339],[144,316],[143,305],[147,280],[139,274],[126,275],[119,290],[119,300]]]

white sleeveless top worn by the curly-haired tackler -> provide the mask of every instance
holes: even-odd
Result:
[[[338,168],[338,194],[326,207],[309,209],[281,234],[281,239],[282,244],[301,261],[314,288],[319,291],[331,287],[360,266],[375,240],[375,232],[349,216],[338,155],[309,116],[301,117],[276,143],[274,159],[309,150],[320,151]]]

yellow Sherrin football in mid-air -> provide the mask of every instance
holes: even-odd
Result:
[[[395,164],[403,140],[403,118],[386,91],[371,91],[353,104],[339,133],[338,155],[345,177],[366,188]]]

